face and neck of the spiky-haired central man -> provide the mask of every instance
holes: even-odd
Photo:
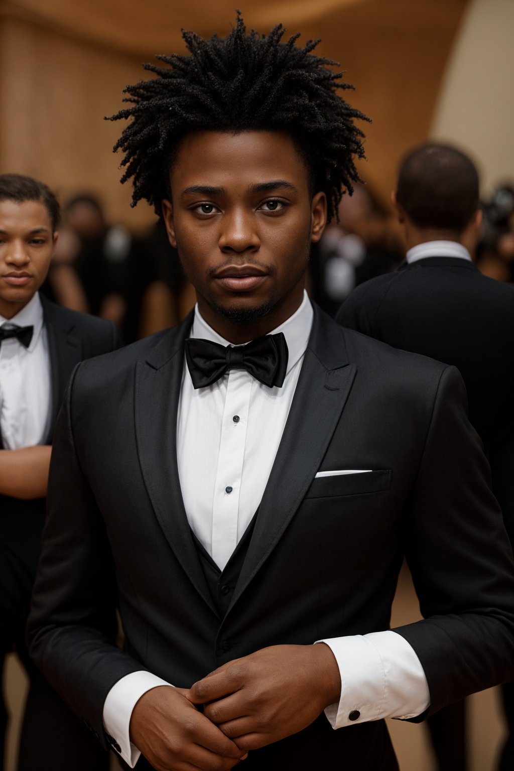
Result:
[[[291,137],[190,133],[170,181],[163,217],[203,318],[233,343],[267,335],[300,306],[311,243],[327,217]],[[268,311],[227,318],[259,308]]]

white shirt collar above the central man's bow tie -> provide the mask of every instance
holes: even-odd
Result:
[[[304,298],[301,301],[300,308],[294,311],[294,314],[286,319],[286,321],[270,332],[270,335],[277,335],[278,332],[283,332],[287,342],[287,351],[289,355],[287,357],[287,372],[289,372],[299,359],[304,355],[307,349],[307,343],[311,335],[312,319],[314,318],[314,311],[312,310],[311,301],[308,298],[307,292],[304,290]],[[194,308],[193,326],[191,327],[191,338],[203,338],[204,340],[210,340],[210,342],[217,342],[220,345],[233,345],[214,332],[203,316],[201,315],[198,304]],[[250,342],[250,341],[248,341]]]

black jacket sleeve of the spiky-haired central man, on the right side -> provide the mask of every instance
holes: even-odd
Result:
[[[514,678],[512,549],[465,406],[459,372],[447,367],[404,520],[424,620],[394,631],[422,663],[430,712]]]

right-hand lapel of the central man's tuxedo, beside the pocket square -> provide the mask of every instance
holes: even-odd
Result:
[[[314,306],[311,338],[230,608],[274,549],[321,464],[356,372],[343,329]],[[230,610],[229,608],[229,610]]]

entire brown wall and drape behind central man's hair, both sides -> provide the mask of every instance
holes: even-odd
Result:
[[[245,20],[267,32],[283,21],[301,40],[341,62],[357,87],[352,104],[365,126],[361,175],[388,201],[398,157],[425,139],[465,0],[260,0]],[[145,76],[156,52],[183,52],[180,26],[226,34],[233,0],[7,0],[0,5],[0,170],[39,177],[62,197],[88,188],[109,217],[133,227],[153,220],[146,204],[129,209],[111,148],[121,123],[103,116],[121,106],[128,82]]]

